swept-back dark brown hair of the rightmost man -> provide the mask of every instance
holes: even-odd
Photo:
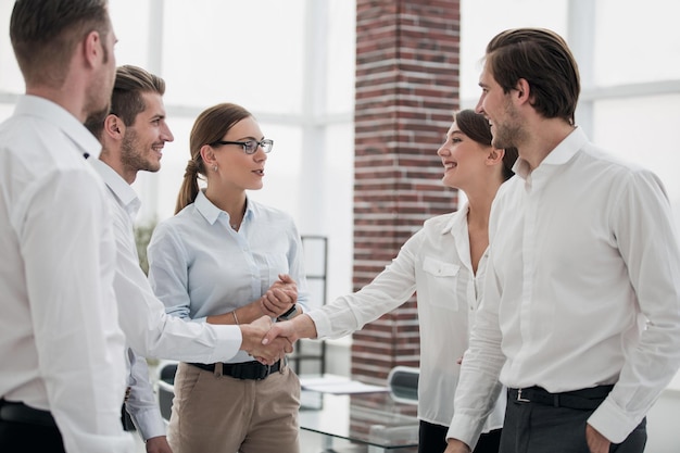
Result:
[[[532,105],[546,118],[575,124],[581,91],[578,65],[567,42],[544,28],[514,28],[500,33],[487,46],[487,65],[509,92],[520,78],[531,87]]]

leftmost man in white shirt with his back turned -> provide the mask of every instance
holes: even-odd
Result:
[[[26,83],[0,126],[0,451],[134,451],[121,426],[125,337],[105,187],[83,127],[106,112],[116,41],[105,0],[21,0]]]

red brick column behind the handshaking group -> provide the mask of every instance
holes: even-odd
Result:
[[[459,0],[356,1],[354,290],[426,218],[456,209],[436,152],[458,106],[458,46]],[[354,334],[354,378],[418,366],[416,303]]]

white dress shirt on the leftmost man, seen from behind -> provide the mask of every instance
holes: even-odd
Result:
[[[0,126],[0,395],[50,411],[70,453],[134,451],[110,205],[84,159],[99,150],[37,97]]]

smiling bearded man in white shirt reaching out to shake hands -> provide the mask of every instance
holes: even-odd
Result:
[[[109,188],[114,212],[117,254],[113,287],[119,324],[130,345],[126,408],[149,453],[172,450],[142,356],[215,363],[228,361],[243,350],[273,363],[290,351],[286,341],[272,349],[261,347],[260,340],[272,324],[268,317],[252,325],[216,326],[167,315],[139,266],[134,221],[141,203],[130,185],[138,172],[160,169],[163,147],[174,139],[165,123],[164,92],[162,78],[137,66],[121,66],[116,71],[111,113],[103,121],[96,118],[86,124],[103,144],[100,159],[91,160],[91,164]]]

